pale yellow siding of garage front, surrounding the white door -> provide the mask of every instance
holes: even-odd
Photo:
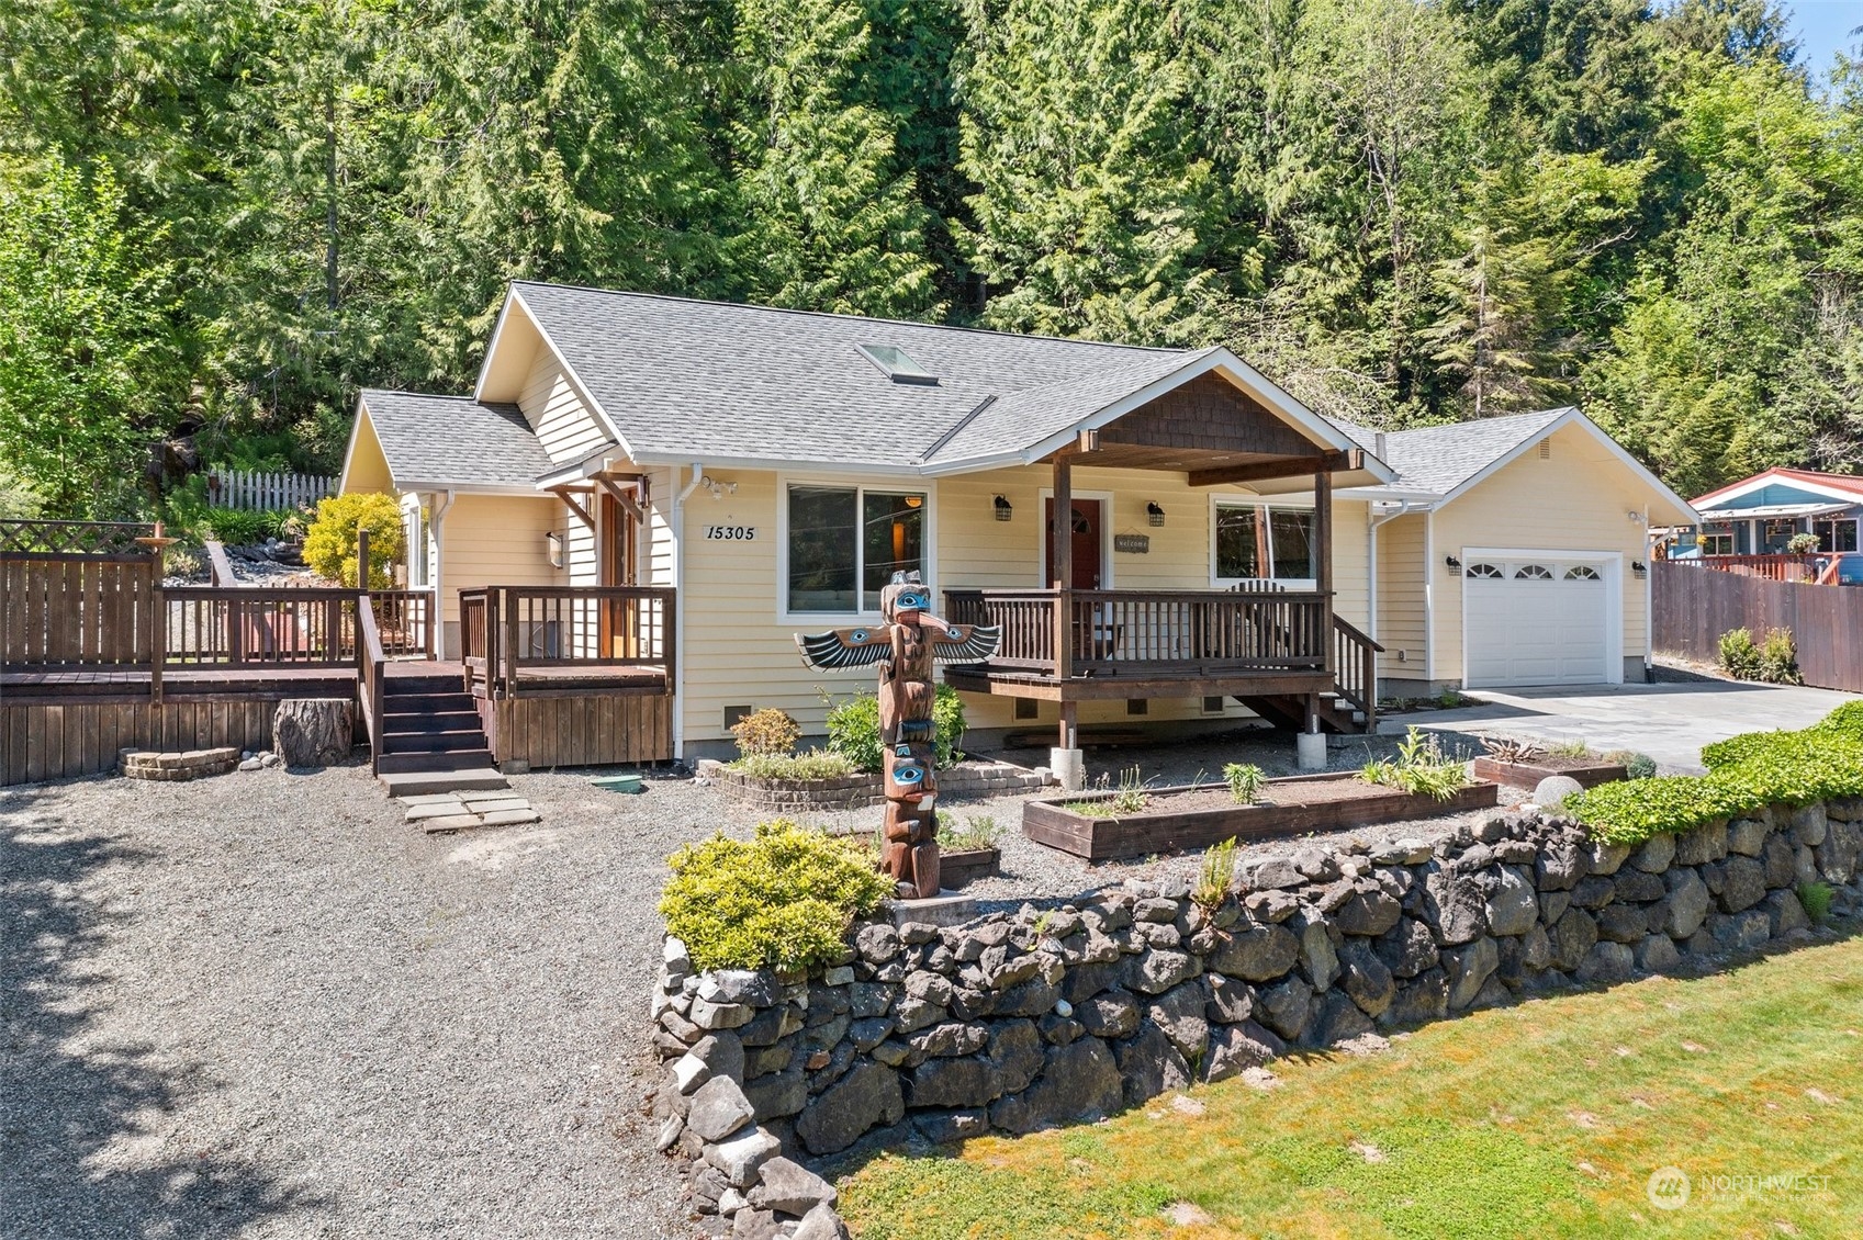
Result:
[[[1436,512],[1436,560],[1462,547],[1621,551],[1625,557],[1625,659],[1645,652],[1645,583],[1630,572],[1647,555],[1643,525],[1628,512],[1651,503],[1649,484],[1580,426],[1552,436],[1552,456],[1530,449]],[[1466,560],[1464,560],[1466,562]],[[1462,581],[1440,573],[1436,680],[1462,676]]]

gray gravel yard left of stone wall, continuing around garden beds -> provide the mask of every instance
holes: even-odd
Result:
[[[1244,734],[1088,758],[1293,769]],[[654,903],[667,853],[755,815],[684,780],[512,786],[538,827],[432,838],[356,765],[0,791],[0,1236],[689,1234],[641,1115]],[[986,907],[1196,869],[1030,843],[1023,799],[946,802],[1004,827]]]

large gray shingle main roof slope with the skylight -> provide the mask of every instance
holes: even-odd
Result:
[[[564,285],[512,290],[646,458],[913,467],[933,447],[941,462],[1017,451],[1198,356]],[[939,382],[894,384],[857,344],[904,348]],[[1041,400],[1015,398],[1034,389]]]

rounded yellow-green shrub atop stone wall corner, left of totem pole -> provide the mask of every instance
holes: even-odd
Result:
[[[859,843],[792,821],[764,823],[755,840],[687,843],[667,864],[660,914],[699,968],[823,964],[853,918],[892,894]]]

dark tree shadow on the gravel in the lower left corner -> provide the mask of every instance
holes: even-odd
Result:
[[[164,1151],[175,1113],[211,1082],[155,1046],[78,1046],[101,1013],[99,942],[123,914],[80,894],[106,864],[149,853],[76,836],[41,789],[0,793],[0,1231],[65,1236],[231,1236],[313,1206],[216,1151]],[[149,1154],[106,1147],[147,1143]],[[156,1154],[155,1151],[160,1151]],[[132,1166],[125,1166],[132,1164]]]

